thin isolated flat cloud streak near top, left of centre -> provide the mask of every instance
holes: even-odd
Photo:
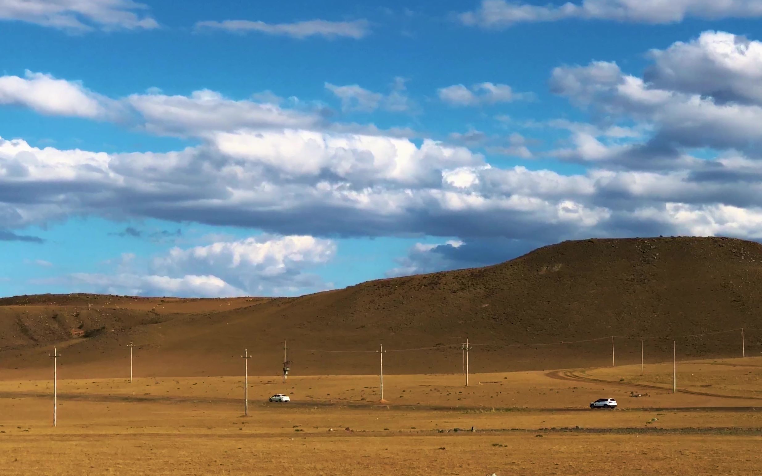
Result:
[[[370,34],[370,23],[367,20],[355,21],[325,21],[309,20],[296,23],[268,24],[264,21],[226,20],[200,21],[197,30],[216,29],[233,33],[248,33],[256,31],[270,35],[283,35],[303,39],[306,37],[347,37],[360,40]]]

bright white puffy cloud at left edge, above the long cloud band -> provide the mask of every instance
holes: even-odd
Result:
[[[116,109],[114,101],[75,81],[27,71],[24,78],[0,76],[0,104],[28,107],[52,116],[103,119]],[[109,109],[111,107],[111,109]]]

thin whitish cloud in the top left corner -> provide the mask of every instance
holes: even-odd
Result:
[[[76,32],[158,28],[147,10],[133,0],[0,0],[0,20]]]

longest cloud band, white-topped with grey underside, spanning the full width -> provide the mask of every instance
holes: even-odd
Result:
[[[762,181],[752,177],[762,168],[743,155],[681,170],[563,175],[493,168],[468,149],[434,141],[303,130],[219,133],[206,145],[162,154],[37,149],[17,139],[0,141],[0,217],[11,228],[96,213],[285,235],[550,242],[701,232],[709,229],[702,214],[725,219],[719,204],[754,216]],[[677,205],[699,218],[678,221]],[[751,238],[762,232],[744,223],[716,228]]]

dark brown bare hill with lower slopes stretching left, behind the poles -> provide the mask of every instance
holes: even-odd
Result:
[[[252,373],[278,375],[283,339],[292,374],[549,369],[640,359],[639,337],[746,327],[747,355],[762,350],[762,245],[731,238],[566,241],[491,267],[361,283],[293,299],[146,299],[19,296],[0,299],[0,376],[234,375],[247,347]],[[563,345],[516,345],[559,343]],[[683,358],[738,356],[741,333],[679,337]],[[671,338],[645,340],[647,362],[671,359]],[[331,350],[333,352],[315,352]],[[347,352],[365,351],[365,352]]]

